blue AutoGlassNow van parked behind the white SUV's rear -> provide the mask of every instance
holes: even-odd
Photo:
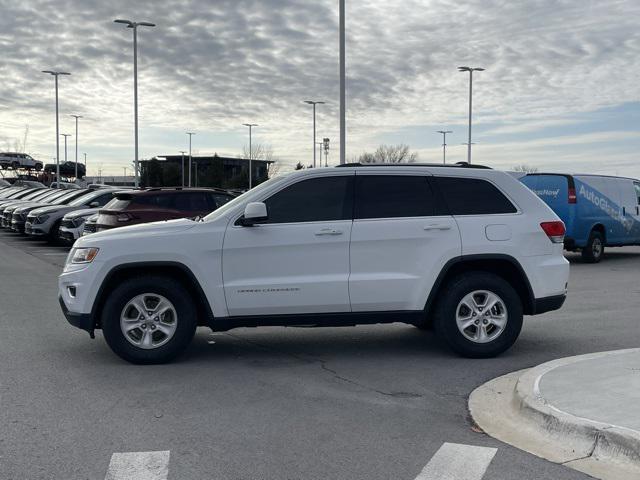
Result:
[[[640,245],[640,180],[531,173],[520,181],[562,219],[565,248],[586,262],[599,262],[605,247]]]

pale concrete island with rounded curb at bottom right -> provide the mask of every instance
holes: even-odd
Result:
[[[496,378],[469,398],[489,435],[596,478],[640,479],[640,349]]]

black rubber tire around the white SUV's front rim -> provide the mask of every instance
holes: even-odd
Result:
[[[149,350],[132,344],[120,328],[120,317],[127,303],[145,293],[162,295],[173,304],[177,314],[173,337],[164,345]],[[128,362],[144,365],[170,362],[186,350],[195,335],[197,321],[194,304],[182,284],[171,278],[130,278],[118,285],[105,302],[101,318],[104,338],[111,350]]]

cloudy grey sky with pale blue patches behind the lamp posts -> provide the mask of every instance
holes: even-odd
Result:
[[[132,36],[139,31],[140,155],[236,156],[269,144],[289,169],[318,135],[338,160],[338,0],[0,0],[0,149],[55,157],[53,78],[61,133],[80,120],[89,174],[133,158]],[[468,74],[474,161],[497,168],[640,177],[638,0],[347,0],[347,157],[406,143],[420,161],[464,160]],[[69,156],[73,159],[70,137]],[[61,155],[64,153],[61,152]]]

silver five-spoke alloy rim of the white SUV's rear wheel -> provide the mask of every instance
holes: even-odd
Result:
[[[456,308],[456,325],[474,343],[489,343],[504,332],[509,315],[504,301],[488,290],[464,296]]]

